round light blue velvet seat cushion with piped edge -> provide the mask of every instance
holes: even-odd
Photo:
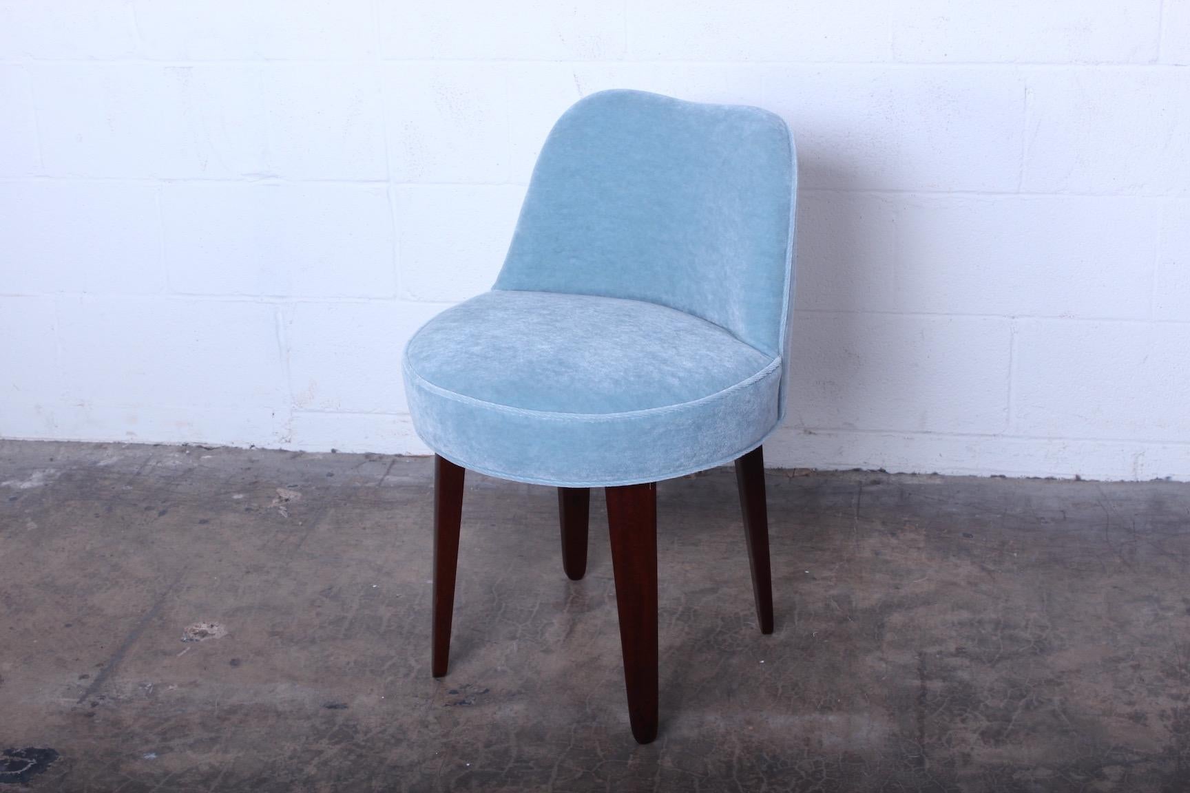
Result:
[[[639,484],[732,461],[778,417],[781,358],[616,297],[494,290],[405,353],[413,424],[441,457],[537,484]]]

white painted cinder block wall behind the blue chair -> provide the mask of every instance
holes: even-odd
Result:
[[[770,464],[1190,478],[1190,0],[0,0],[0,435],[425,453],[610,87],[801,156]]]

